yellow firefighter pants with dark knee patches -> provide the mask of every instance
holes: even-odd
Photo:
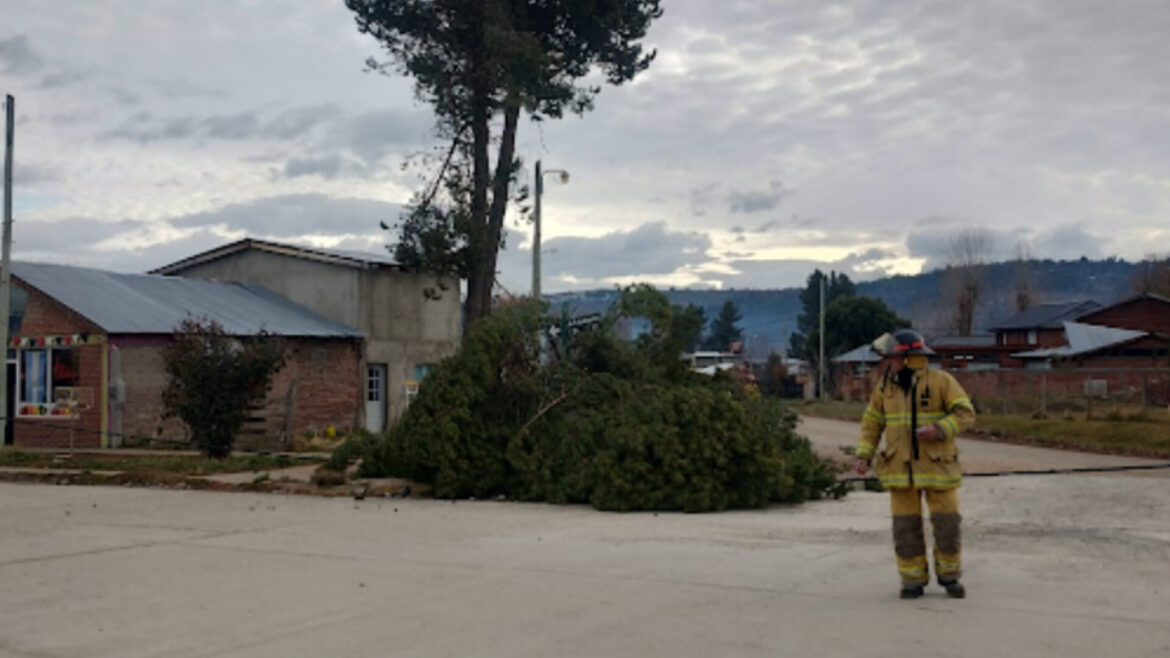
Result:
[[[940,583],[957,581],[962,575],[962,543],[957,489],[902,487],[889,489],[889,508],[894,515],[894,553],[903,585],[924,585],[930,581],[927,568],[927,542],[923,537],[922,496],[930,508],[935,529],[935,574]]]

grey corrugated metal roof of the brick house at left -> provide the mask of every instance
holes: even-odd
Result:
[[[364,336],[260,286],[32,262],[14,262],[12,273],[109,334],[171,334],[207,317],[234,336]]]

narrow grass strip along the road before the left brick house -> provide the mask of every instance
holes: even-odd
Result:
[[[319,460],[297,460],[311,464]],[[188,454],[87,454],[73,457],[51,452],[0,450],[0,466],[22,468],[73,468],[78,471],[123,471],[126,473],[161,473],[173,475],[214,475],[216,473],[249,473],[284,468],[292,461],[283,454],[230,455],[208,459]]]

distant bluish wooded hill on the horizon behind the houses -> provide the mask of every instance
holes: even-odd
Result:
[[[979,330],[987,330],[1016,314],[1017,273],[1014,262],[987,266],[984,279],[985,299],[976,313]],[[1117,259],[1028,262],[1034,302],[1092,299],[1112,303],[1133,294],[1133,273],[1134,263]],[[763,356],[770,350],[783,351],[787,347],[789,335],[796,330],[797,317],[801,311],[801,289],[663,292],[672,303],[701,307],[708,320],[718,314],[725,301],[731,300],[743,315],[739,327],[743,328],[749,352]],[[856,290],[859,295],[882,300],[929,336],[948,334],[947,318],[950,310],[942,303],[940,270],[856,283]],[[570,313],[574,315],[604,313],[617,300],[617,290],[558,293],[548,295],[546,299],[553,310],[567,304]]]

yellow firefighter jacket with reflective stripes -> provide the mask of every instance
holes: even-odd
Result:
[[[954,377],[941,370],[915,371],[910,391],[888,378],[869,396],[861,418],[856,455],[875,457],[885,487],[951,489],[962,484],[955,437],[975,423],[975,407]],[[935,425],[938,439],[917,440],[914,429]],[[886,443],[879,451],[882,432]]]

